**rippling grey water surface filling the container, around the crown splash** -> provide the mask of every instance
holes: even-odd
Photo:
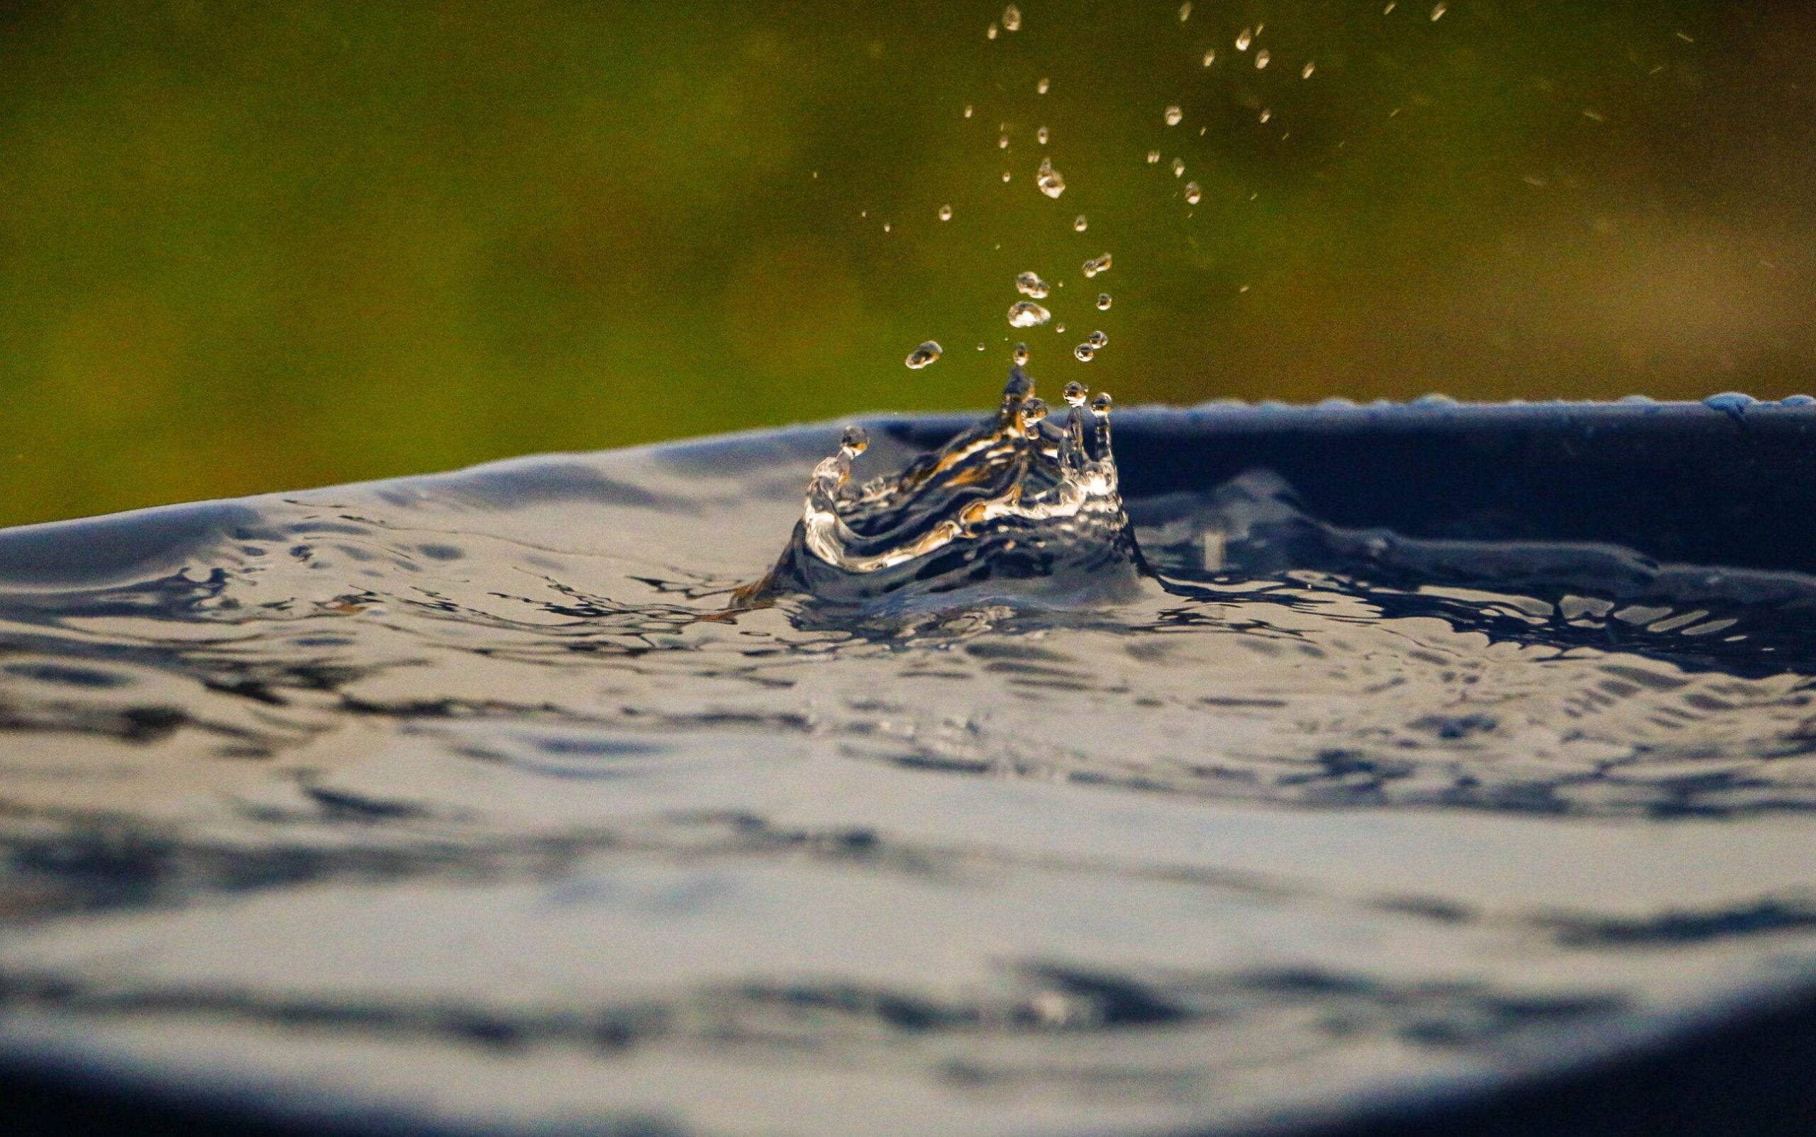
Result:
[[[835,441],[0,537],[0,1046],[305,1113],[1100,1133],[1816,977],[1811,577],[1249,470],[1124,486],[1157,575],[1091,604],[728,611]]]

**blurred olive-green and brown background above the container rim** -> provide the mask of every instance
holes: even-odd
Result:
[[[1816,386],[1816,5],[1021,7],[0,5],[0,522],[977,406],[1013,339],[1124,404]]]

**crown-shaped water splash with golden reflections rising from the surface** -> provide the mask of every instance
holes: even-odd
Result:
[[[1084,345],[1081,345],[1084,346]],[[897,475],[852,486],[870,446],[846,426],[808,479],[801,520],[770,573],[734,606],[785,593],[870,604],[1015,580],[1002,600],[1131,595],[1140,551],[1122,511],[1108,394],[1068,384],[1064,426],[1010,368],[997,412]]]

